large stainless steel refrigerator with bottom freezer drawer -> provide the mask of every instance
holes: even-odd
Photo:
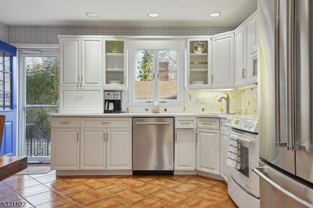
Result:
[[[313,207],[313,0],[258,0],[261,208]]]

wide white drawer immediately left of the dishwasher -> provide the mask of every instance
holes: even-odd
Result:
[[[84,117],[80,118],[81,127],[99,128],[131,128],[132,118],[95,118]]]

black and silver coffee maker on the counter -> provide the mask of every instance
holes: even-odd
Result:
[[[104,90],[104,113],[121,113],[121,103],[121,90]]]

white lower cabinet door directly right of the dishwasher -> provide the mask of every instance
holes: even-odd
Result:
[[[195,170],[196,129],[175,129],[175,170]]]

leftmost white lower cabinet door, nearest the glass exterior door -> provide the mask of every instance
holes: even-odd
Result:
[[[51,169],[79,169],[79,128],[51,128]]]

